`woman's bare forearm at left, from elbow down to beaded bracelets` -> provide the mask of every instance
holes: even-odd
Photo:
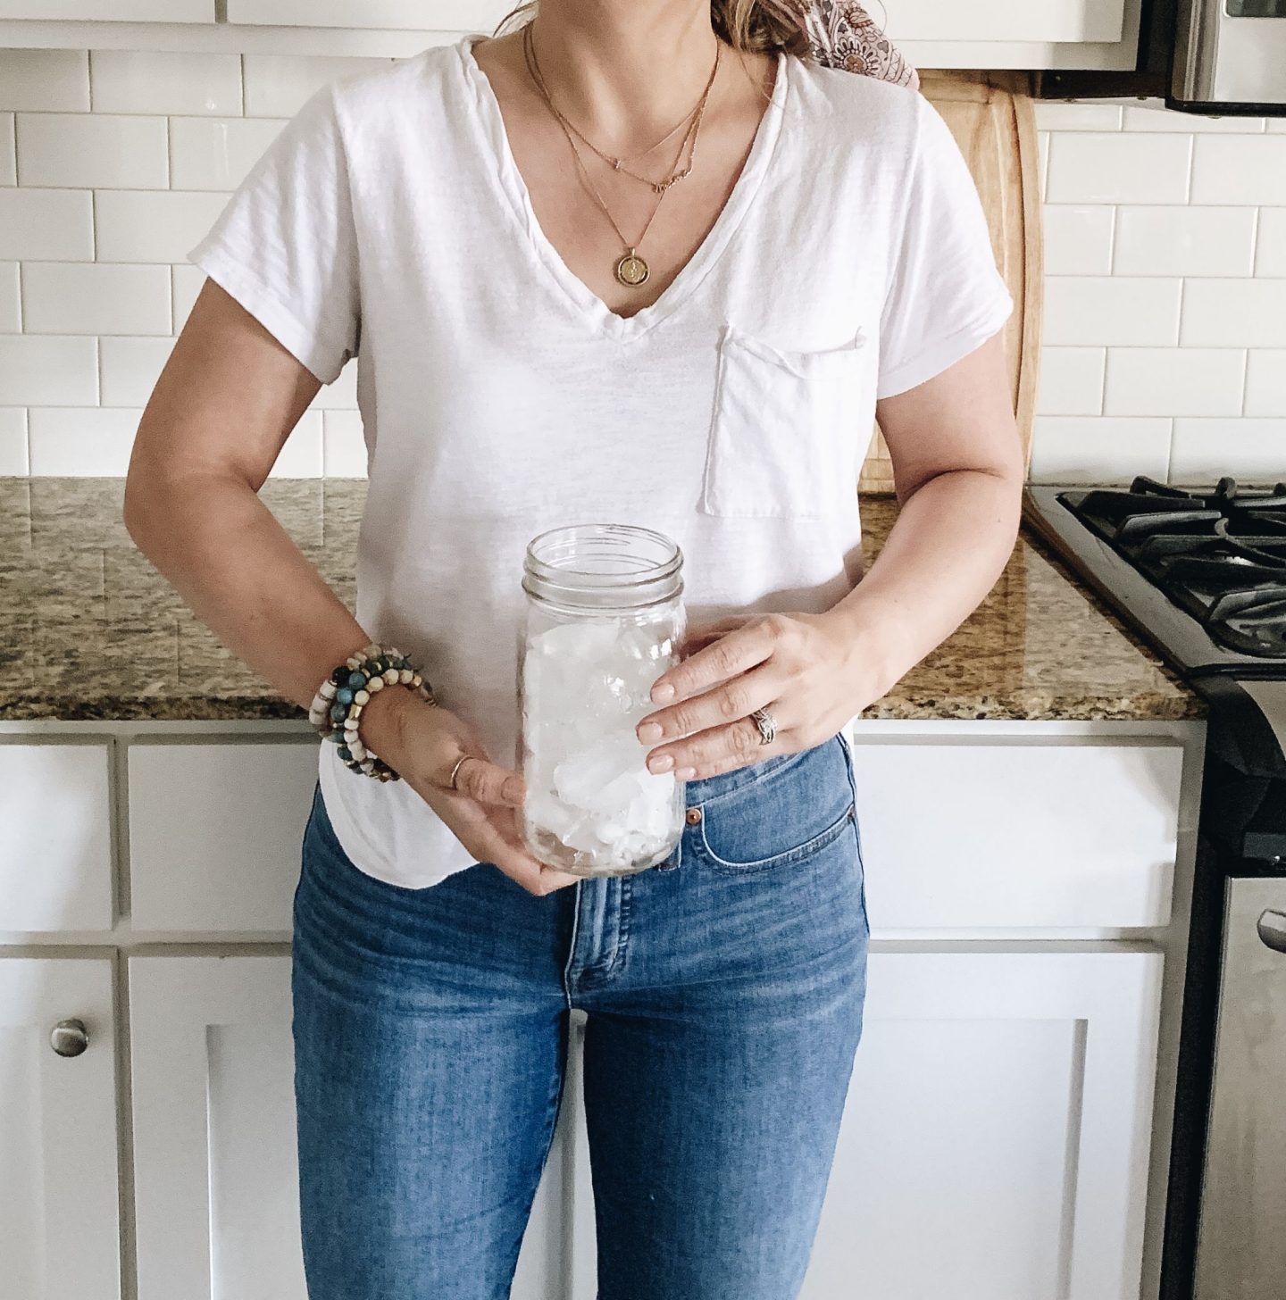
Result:
[[[300,707],[369,640],[244,480],[131,478],[125,524],[215,636]]]

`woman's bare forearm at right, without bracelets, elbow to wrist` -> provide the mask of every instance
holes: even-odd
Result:
[[[863,660],[874,656],[879,694],[945,641],[995,586],[1013,552],[1021,500],[1018,478],[957,469],[930,478],[902,503],[870,571],[830,611],[843,629],[841,644]],[[870,680],[870,662],[854,667],[858,680]]]

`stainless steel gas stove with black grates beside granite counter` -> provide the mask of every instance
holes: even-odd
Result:
[[[1030,488],[1038,538],[1209,703],[1162,1300],[1286,1297],[1286,482]]]

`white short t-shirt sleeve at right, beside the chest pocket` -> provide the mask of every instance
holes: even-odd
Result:
[[[917,96],[918,133],[891,243],[880,316],[878,398],[905,393],[967,356],[1009,318],[978,187],[934,105]]]

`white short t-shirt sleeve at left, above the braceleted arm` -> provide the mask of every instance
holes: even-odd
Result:
[[[189,260],[322,384],[356,354],[359,294],[348,166],[334,92],[282,129]]]

